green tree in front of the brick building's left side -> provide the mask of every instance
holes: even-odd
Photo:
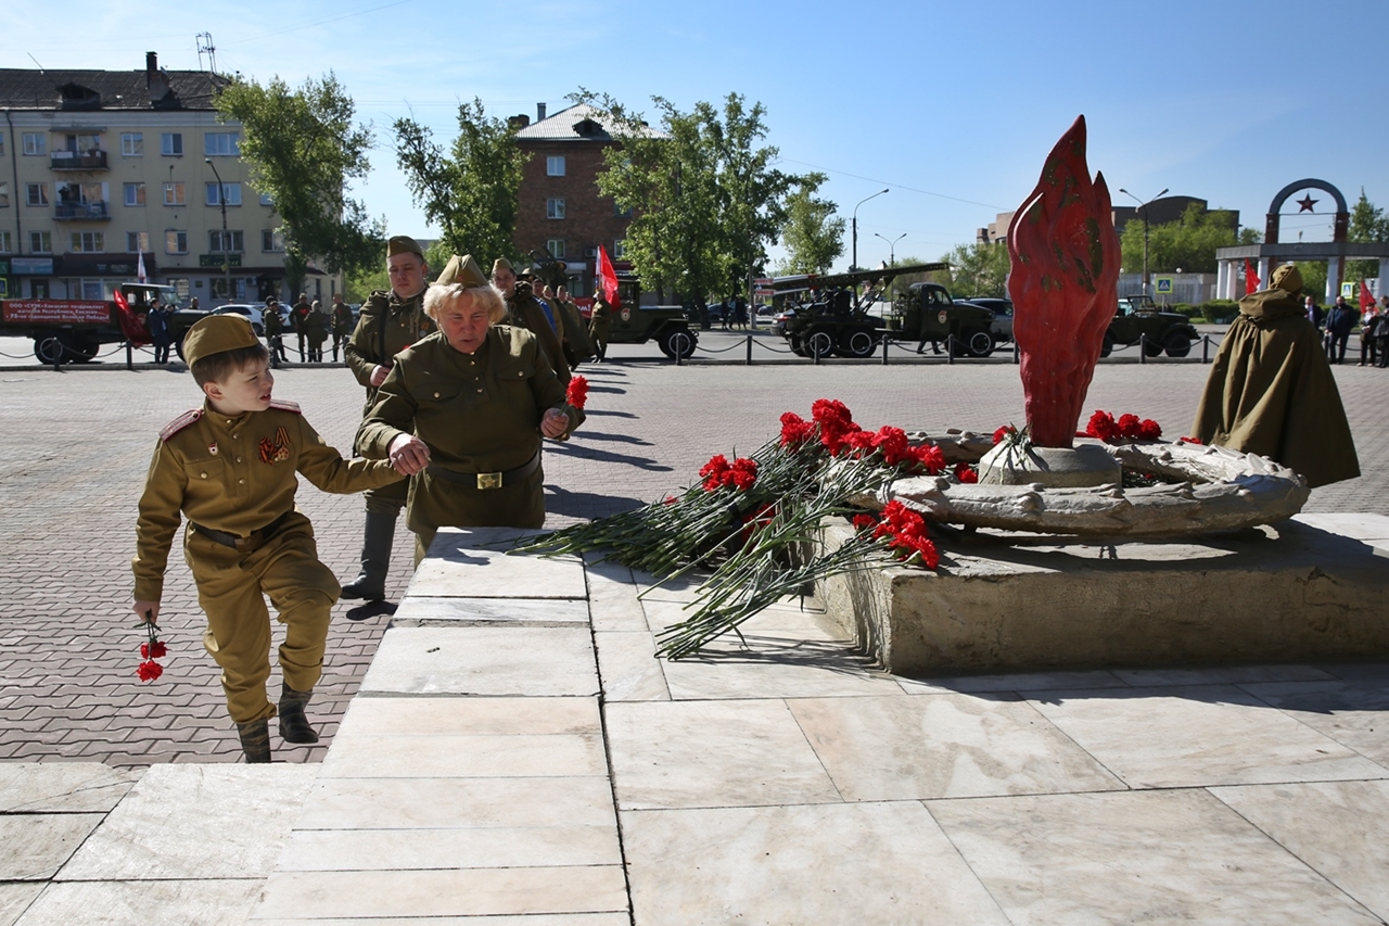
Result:
[[[458,138],[449,154],[414,120],[399,118],[392,128],[415,203],[443,229],[440,246],[450,254],[481,254],[479,264],[517,257],[517,193],[531,159],[517,146],[517,128],[488,118],[478,99],[458,106]]]

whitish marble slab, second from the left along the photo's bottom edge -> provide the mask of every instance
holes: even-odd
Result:
[[[258,877],[49,884],[15,926],[243,926],[261,884]]]

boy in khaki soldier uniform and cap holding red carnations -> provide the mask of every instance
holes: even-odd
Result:
[[[183,558],[207,613],[203,642],[222,669],[226,708],[247,762],[269,762],[269,717],[286,742],[317,742],[304,706],[322,673],[339,587],[294,509],[296,473],[325,492],[360,492],[401,477],[388,463],[343,460],[293,402],[271,398],[269,356],[240,316],[199,321],[183,342],[203,407],[160,432],[136,524],[135,613],[157,623],[179,514]],[[265,697],[269,613],[286,626],[279,706]]]

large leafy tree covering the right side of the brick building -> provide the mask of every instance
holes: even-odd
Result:
[[[643,285],[694,302],[743,292],[786,222],[788,193],[806,181],[771,167],[775,147],[757,147],[767,136],[763,106],[746,108],[729,93],[722,111],[697,103],[682,113],[657,96],[660,131],[651,131],[607,95],[581,89],[569,99],[603,113],[619,142],[604,152],[597,185],[633,210],[624,246]]]

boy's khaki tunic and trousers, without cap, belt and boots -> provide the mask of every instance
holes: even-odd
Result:
[[[204,403],[160,434],[140,496],[135,598],[163,598],[182,512],[190,521],[183,558],[207,612],[203,642],[222,667],[226,708],[236,723],[275,715],[265,698],[271,633],[263,591],[286,624],[279,648],[285,681],[294,691],[310,691],[322,672],[329,609],[340,588],[318,562],[313,526],[294,510],[296,473],[325,492],[360,492],[401,478],[383,462],[343,460],[292,402],[236,417]],[[279,530],[247,552],[192,527],[250,537],[282,514]]]

